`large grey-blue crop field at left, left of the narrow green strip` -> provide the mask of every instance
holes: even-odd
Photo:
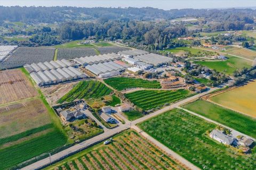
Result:
[[[0,69],[21,67],[25,64],[50,62],[53,60],[55,48],[45,47],[19,47],[13,54],[0,63]]]

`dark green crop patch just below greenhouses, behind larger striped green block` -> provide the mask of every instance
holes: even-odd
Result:
[[[148,81],[143,79],[133,79],[125,77],[109,78],[104,80],[109,86],[117,89],[131,89],[131,88],[145,88],[145,89],[159,89],[161,84],[154,80]]]

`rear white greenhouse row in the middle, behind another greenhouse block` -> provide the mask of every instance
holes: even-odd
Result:
[[[115,53],[111,54],[103,54],[103,55],[94,55],[90,57],[81,57],[81,58],[75,58],[74,61],[81,64],[81,65],[92,65],[92,64],[99,64],[114,60],[121,60],[122,56],[117,55]]]

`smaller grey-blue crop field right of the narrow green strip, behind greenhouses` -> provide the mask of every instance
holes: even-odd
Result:
[[[58,60],[96,55],[94,48],[58,48]]]

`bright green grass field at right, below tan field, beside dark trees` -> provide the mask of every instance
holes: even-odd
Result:
[[[209,69],[215,69],[218,72],[224,72],[231,75],[236,69],[242,69],[243,67],[251,67],[252,62],[249,60],[244,60],[243,58],[238,58],[230,55],[226,55],[228,60],[226,61],[195,61],[196,64],[201,64]]]

